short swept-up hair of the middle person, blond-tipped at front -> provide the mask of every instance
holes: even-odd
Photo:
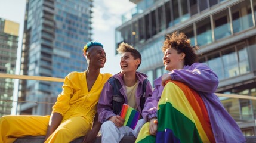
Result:
[[[120,43],[118,48],[116,49],[119,54],[123,54],[124,52],[131,52],[131,55],[134,57],[134,59],[140,59],[141,64],[141,54],[138,52],[137,49],[135,49],[133,46],[129,45],[128,43]],[[140,64],[138,64],[138,67],[140,67]],[[138,69],[137,67],[137,69]]]

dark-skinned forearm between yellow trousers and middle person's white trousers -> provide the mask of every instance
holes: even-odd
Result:
[[[97,138],[101,123],[98,122],[98,113],[95,114],[92,129],[85,135],[83,143],[93,143]]]

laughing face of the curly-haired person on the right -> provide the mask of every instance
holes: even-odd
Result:
[[[173,48],[166,49],[163,57],[165,70],[183,69],[184,57],[185,54],[183,52],[178,54],[178,51]]]

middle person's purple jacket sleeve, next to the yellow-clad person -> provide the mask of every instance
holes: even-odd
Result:
[[[105,122],[107,119],[109,119],[112,116],[116,116],[115,113],[113,113],[112,110],[112,86],[110,85],[109,82],[106,82],[103,90],[101,91],[100,94],[100,100],[98,101],[98,121],[100,123]]]

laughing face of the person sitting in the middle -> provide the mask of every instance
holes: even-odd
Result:
[[[127,74],[129,72],[135,72],[139,64],[139,58],[134,59],[131,52],[124,52],[120,60],[121,73]]]

